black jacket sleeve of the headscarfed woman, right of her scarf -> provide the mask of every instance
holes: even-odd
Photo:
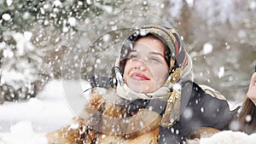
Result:
[[[230,111],[227,101],[206,94],[191,81],[183,83],[181,99],[180,120],[172,127],[160,128],[160,143],[182,143],[191,132],[201,127],[227,130],[238,110]]]

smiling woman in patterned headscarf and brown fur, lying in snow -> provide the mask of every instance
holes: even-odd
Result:
[[[191,68],[177,32],[143,26],[123,44],[113,89],[94,88],[84,113],[49,143],[169,144],[202,127],[227,129],[236,111],[190,81]]]

